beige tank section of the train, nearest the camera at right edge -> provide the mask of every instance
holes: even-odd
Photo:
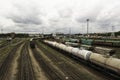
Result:
[[[93,53],[90,56],[90,61],[104,68],[120,73],[120,59],[112,57],[106,58],[101,54]]]

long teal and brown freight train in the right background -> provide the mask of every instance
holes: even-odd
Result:
[[[110,40],[110,39],[89,39],[89,38],[81,38],[81,39],[65,39],[64,42],[71,43],[81,43],[84,45],[101,45],[101,46],[112,46],[112,47],[120,47],[120,40]]]

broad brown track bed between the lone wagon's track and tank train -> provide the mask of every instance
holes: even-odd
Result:
[[[74,67],[73,65],[71,65],[65,59],[61,58],[61,56],[59,54],[55,54],[53,51],[48,50],[47,47],[45,47],[44,45],[41,45],[41,44],[37,43],[37,46],[65,74],[66,79],[68,79],[68,80],[89,80],[88,78],[90,78],[90,77],[86,77],[85,74],[82,74],[79,71],[79,69],[77,69],[76,67]]]

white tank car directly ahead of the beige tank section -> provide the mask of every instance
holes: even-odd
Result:
[[[78,57],[82,58],[82,59],[85,59],[85,60],[89,60],[89,57],[90,55],[92,54],[91,51],[88,51],[88,50],[79,50],[78,51]]]

